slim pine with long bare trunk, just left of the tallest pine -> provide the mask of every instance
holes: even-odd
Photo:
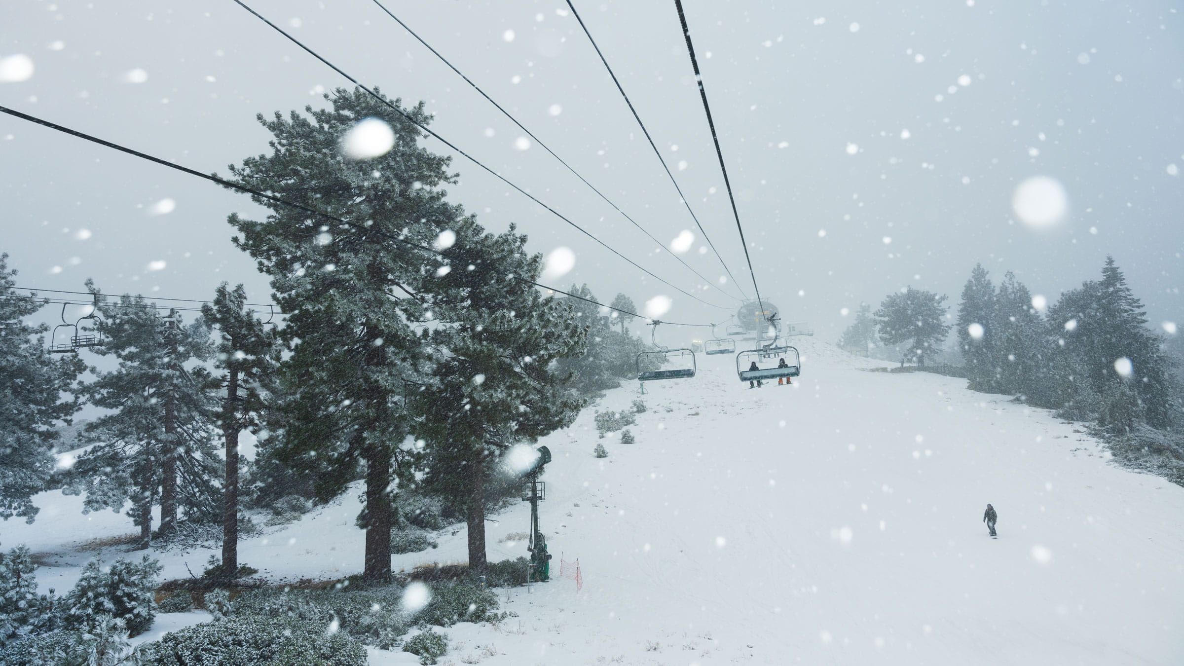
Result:
[[[260,412],[279,364],[275,331],[269,329],[246,309],[246,292],[226,282],[218,286],[213,305],[201,307],[201,316],[218,329],[214,367],[221,373],[214,383],[223,391],[218,427],[225,446],[226,472],[223,481],[223,574],[230,578],[238,571],[238,434],[258,431]]]

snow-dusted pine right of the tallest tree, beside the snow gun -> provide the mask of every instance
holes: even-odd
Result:
[[[475,270],[435,271],[432,380],[413,406],[420,416],[416,434],[427,444],[429,484],[466,507],[469,569],[480,571],[490,468],[510,446],[575,420],[584,401],[553,361],[584,351],[590,321],[574,316],[573,299],[543,299],[517,278],[538,280],[542,264],[540,255],[523,250],[526,236],[513,226],[485,233],[471,217],[458,222],[448,262]],[[591,316],[607,331],[607,318]]]

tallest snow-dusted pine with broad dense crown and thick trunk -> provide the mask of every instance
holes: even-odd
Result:
[[[305,108],[288,117],[258,116],[272,134],[271,154],[232,165],[231,179],[287,201],[323,211],[335,222],[256,197],[270,209],[263,220],[230,216],[236,244],[271,277],[288,313],[281,332],[285,360],[284,431],[271,454],[289,467],[316,473],[317,495],[333,498],[365,475],[365,576],[391,575],[392,492],[411,452],[403,442],[414,415],[406,401],[424,384],[427,322],[435,319],[419,290],[433,256],[399,243],[449,248],[462,212],[445,200],[456,182],[450,159],[418,146],[418,127],[361,89],[326,95],[332,108]],[[399,104],[395,100],[394,104]],[[423,104],[406,109],[417,122]],[[391,149],[349,156],[346,135],[362,120],[384,122]],[[458,271],[466,264],[458,264]]]

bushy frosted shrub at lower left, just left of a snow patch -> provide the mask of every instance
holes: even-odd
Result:
[[[161,565],[147,555],[139,563],[116,559],[103,566],[97,559],[86,563],[82,577],[64,600],[67,629],[91,630],[97,617],[123,620],[133,636],[152,627],[156,616],[153,590]]]

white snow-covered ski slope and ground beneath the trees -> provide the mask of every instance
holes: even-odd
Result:
[[[803,377],[749,390],[731,356],[689,380],[652,382],[635,444],[603,440],[592,409],[541,443],[542,526],[556,578],[501,590],[500,626],[448,629],[446,659],[509,664],[1184,664],[1184,488],[1108,462],[1081,428],[965,380],[867,372],[797,338]],[[628,409],[636,384],[597,409]],[[133,532],[46,493],[34,525],[0,542],[45,553],[67,589],[77,544]],[[987,537],[983,510],[999,512]],[[347,497],[240,546],[275,578],[361,568]],[[490,558],[527,530],[489,524]],[[464,559],[464,532],[395,569]],[[161,556],[166,577],[212,551]],[[558,578],[580,562],[583,590]],[[413,664],[371,651],[372,664]]]

